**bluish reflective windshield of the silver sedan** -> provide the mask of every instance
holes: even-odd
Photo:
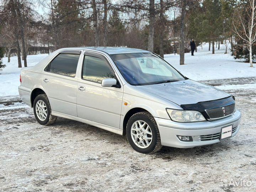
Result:
[[[131,85],[151,85],[185,78],[170,64],[153,53],[128,53],[110,55]]]

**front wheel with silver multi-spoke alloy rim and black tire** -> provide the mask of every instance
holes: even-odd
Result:
[[[140,153],[151,154],[162,148],[158,126],[148,112],[135,113],[130,117],[126,135],[132,148]]]

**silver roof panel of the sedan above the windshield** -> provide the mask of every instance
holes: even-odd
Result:
[[[103,51],[109,55],[113,54],[123,54],[123,53],[150,53],[150,51],[135,48],[126,47],[79,47],[84,50],[98,50]]]

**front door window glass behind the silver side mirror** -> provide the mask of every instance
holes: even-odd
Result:
[[[82,78],[101,83],[102,79],[114,78],[114,73],[104,60],[85,55]]]

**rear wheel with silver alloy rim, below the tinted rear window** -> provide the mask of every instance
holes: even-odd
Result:
[[[56,121],[57,117],[52,115],[52,109],[46,94],[38,95],[35,98],[33,108],[34,116],[41,125],[48,126]]]

